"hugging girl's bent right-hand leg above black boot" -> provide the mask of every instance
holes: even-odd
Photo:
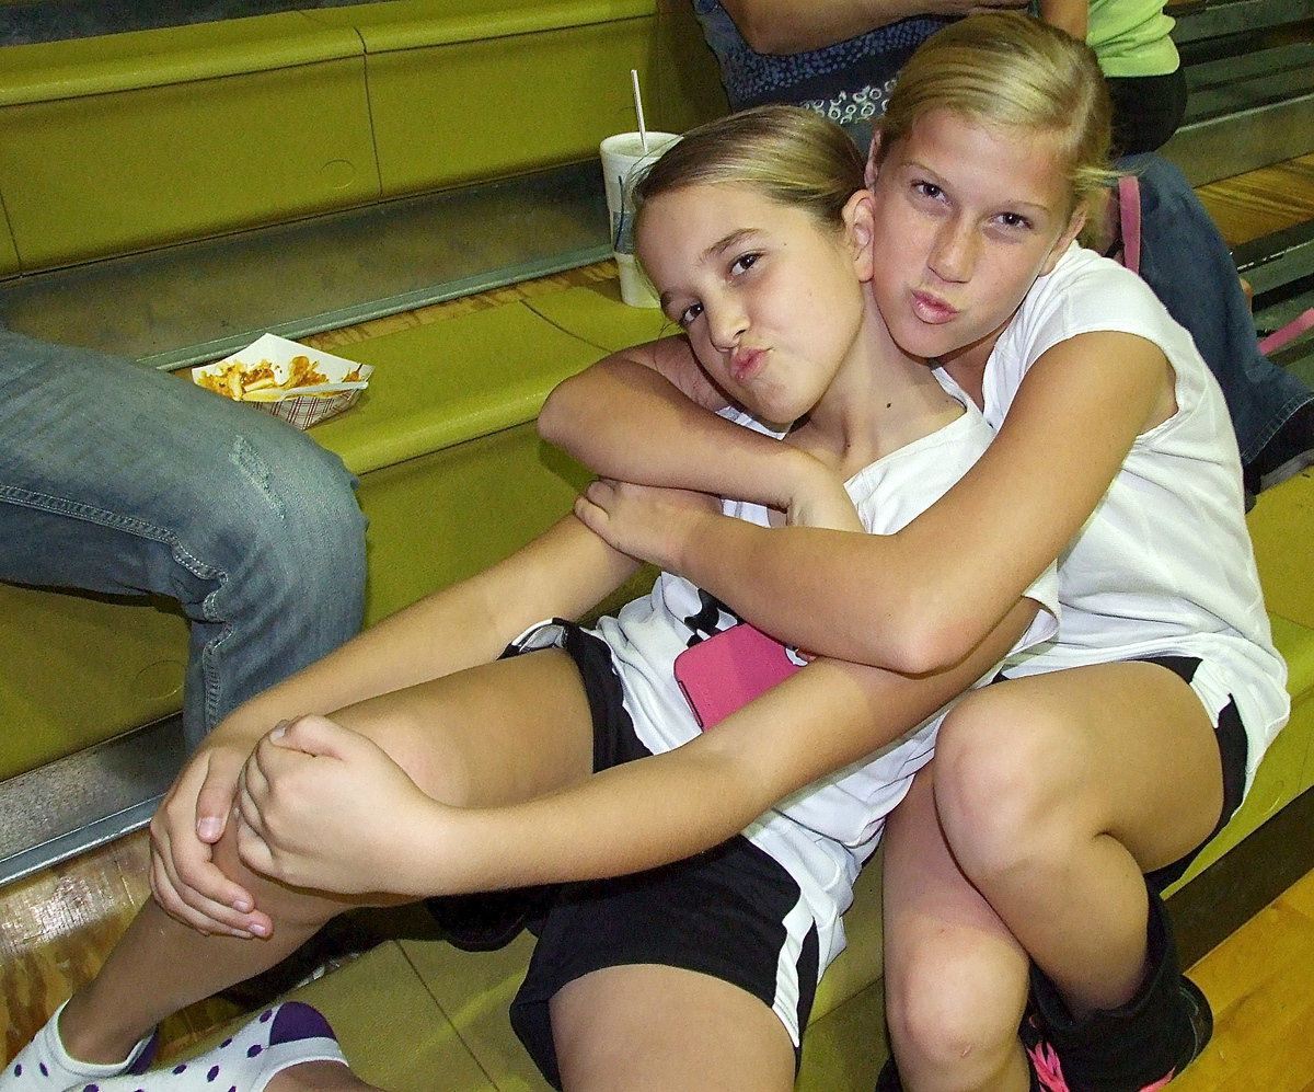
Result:
[[[937,742],[954,858],[1074,1013],[1144,978],[1143,873],[1198,845],[1222,808],[1213,725],[1152,664],[1109,664],[968,695]]]

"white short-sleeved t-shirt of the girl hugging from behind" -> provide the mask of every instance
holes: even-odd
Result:
[[[1138,436],[1109,491],[1059,558],[1058,636],[1014,654],[1010,677],[1158,654],[1198,657],[1210,714],[1233,695],[1248,740],[1247,790],[1290,712],[1246,530],[1236,438],[1190,335],[1135,273],[1074,244],[1041,277],[986,364],[997,430],[1028,368],[1077,334],[1113,330],[1159,346],[1177,411]],[[1089,367],[1099,367],[1099,360]],[[937,369],[943,386],[964,397]]]

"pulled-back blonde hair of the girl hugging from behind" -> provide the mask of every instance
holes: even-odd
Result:
[[[1060,138],[1070,209],[1097,210],[1116,177],[1109,164],[1109,92],[1095,53],[1021,12],[968,16],[938,30],[904,64],[876,122],[876,163],[930,110]]]

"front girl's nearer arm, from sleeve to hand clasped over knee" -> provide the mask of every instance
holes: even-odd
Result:
[[[1033,614],[1034,604],[1020,604],[963,661],[922,678],[815,661],[685,746],[507,807],[439,804],[364,737],[326,720],[298,721],[256,753],[239,844],[252,867],[288,883],[403,895],[611,876],[682,859],[920,724],[993,666]],[[359,819],[343,813],[347,798]],[[325,803],[307,815],[311,799]],[[388,815],[386,829],[368,821],[377,813]],[[418,845],[430,852],[415,853]]]

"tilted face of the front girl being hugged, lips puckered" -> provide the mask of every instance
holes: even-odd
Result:
[[[648,201],[637,247],[699,363],[761,419],[803,417],[851,361],[869,306],[866,191],[840,233],[746,184],[689,185]]]

